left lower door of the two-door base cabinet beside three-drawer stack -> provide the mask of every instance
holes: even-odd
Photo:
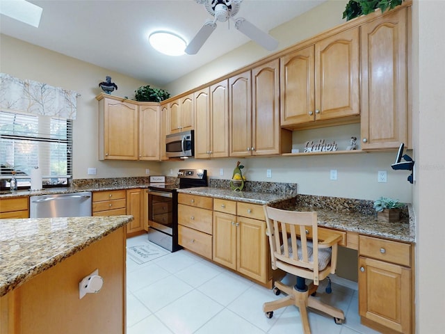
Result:
[[[236,270],[236,216],[213,212],[213,261]]]

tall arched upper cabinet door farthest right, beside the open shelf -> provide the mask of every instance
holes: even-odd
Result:
[[[407,143],[406,8],[361,26],[362,150]]]

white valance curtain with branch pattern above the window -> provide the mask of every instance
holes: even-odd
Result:
[[[75,120],[77,96],[79,95],[74,90],[0,73],[1,109]]]

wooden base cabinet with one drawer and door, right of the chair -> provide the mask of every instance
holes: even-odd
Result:
[[[412,245],[359,236],[359,315],[382,333],[412,333]]]

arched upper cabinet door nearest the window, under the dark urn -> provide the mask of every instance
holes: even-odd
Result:
[[[106,98],[100,102],[99,108],[103,108],[104,147],[99,159],[137,160],[138,106]]]

